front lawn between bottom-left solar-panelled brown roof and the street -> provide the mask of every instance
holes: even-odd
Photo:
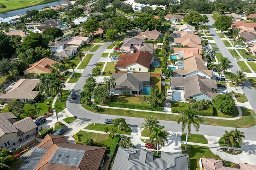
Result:
[[[109,154],[110,152],[110,147],[112,144],[112,139],[108,138],[108,135],[101,134],[101,133],[91,133],[91,132],[85,132],[85,131],[80,131],[76,133],[78,136],[79,141],[85,141],[87,138],[93,139],[94,143],[97,143],[99,145],[102,145],[101,147],[106,147],[106,153]]]

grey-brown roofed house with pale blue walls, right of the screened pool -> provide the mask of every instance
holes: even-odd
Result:
[[[172,89],[184,90],[185,98],[194,100],[212,100],[218,93],[212,90],[217,89],[216,81],[204,78],[198,74],[188,77],[172,77]]]

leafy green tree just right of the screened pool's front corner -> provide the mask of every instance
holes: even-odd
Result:
[[[166,95],[164,91],[161,90],[159,92],[159,89],[150,89],[150,96],[148,96],[148,101],[151,106],[164,106],[164,100],[166,100]]]

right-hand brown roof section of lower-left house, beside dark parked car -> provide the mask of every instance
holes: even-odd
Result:
[[[37,125],[34,123],[31,117],[26,117],[20,121],[16,121],[12,126],[18,129],[18,136],[37,128]]]

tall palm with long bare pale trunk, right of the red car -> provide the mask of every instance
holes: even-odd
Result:
[[[199,130],[200,123],[202,123],[202,119],[196,115],[196,110],[192,109],[191,107],[188,107],[184,111],[182,111],[183,116],[180,117],[177,121],[178,124],[180,122],[182,123],[181,130],[184,132],[185,127],[187,126],[187,135],[186,135],[186,146],[185,146],[185,152],[187,151],[187,145],[188,145],[188,134],[191,132],[191,125],[193,125],[196,128],[196,131]]]

